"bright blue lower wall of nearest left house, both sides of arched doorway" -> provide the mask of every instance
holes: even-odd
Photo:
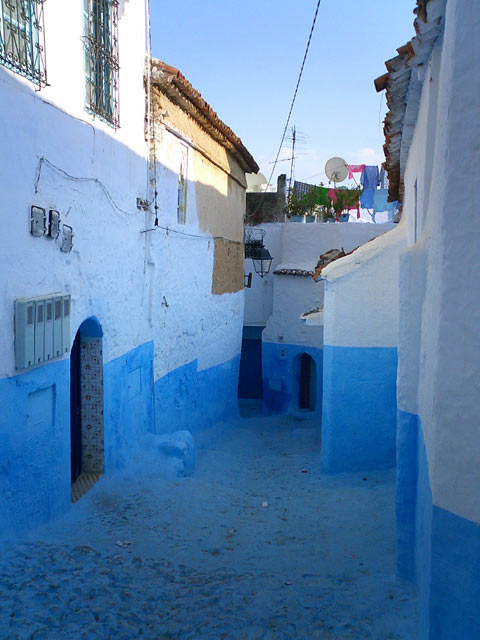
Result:
[[[153,428],[153,342],[104,365],[105,470]],[[0,536],[70,505],[70,360],[0,380]]]

